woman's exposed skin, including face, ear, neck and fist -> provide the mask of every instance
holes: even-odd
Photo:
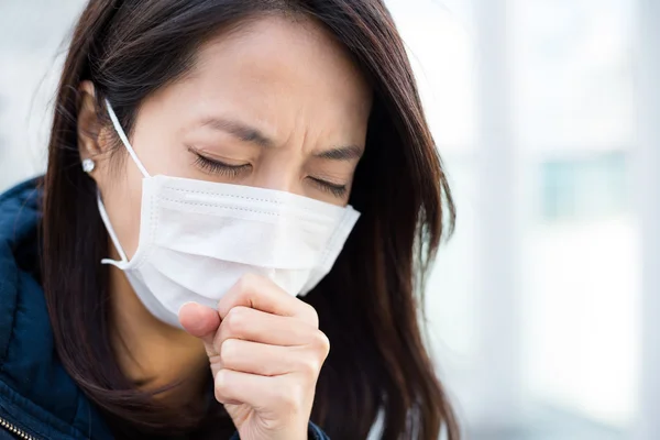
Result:
[[[79,90],[80,156],[96,163],[91,177],[130,258],[138,246],[142,175],[128,155],[110,156],[112,128],[97,118],[94,85],[84,81]],[[267,16],[202,46],[188,75],[141,103],[130,140],[151,175],[271,188],[343,206],[371,106],[367,82],[326,30],[301,16]],[[154,318],[124,274],[110,271],[112,318],[121,322],[112,338],[128,377],[144,387],[184,378],[186,386],[162,398],[190,404],[201,400],[210,363],[216,397],[242,439],[307,438],[329,350],[316,310],[268,279],[246,276],[217,310],[185,305],[183,331]]]

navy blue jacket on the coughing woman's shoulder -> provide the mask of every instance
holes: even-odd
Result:
[[[36,184],[0,195],[0,440],[110,440],[103,418],[55,352],[37,271]],[[312,424],[309,438],[328,439]]]

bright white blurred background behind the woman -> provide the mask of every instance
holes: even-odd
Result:
[[[427,316],[468,439],[660,439],[660,2],[387,2],[459,210]],[[84,3],[0,2],[0,190]]]

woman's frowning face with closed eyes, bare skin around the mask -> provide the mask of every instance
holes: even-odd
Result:
[[[191,72],[143,101],[131,143],[151,175],[345,205],[364,152],[371,105],[365,79],[326,30],[300,16],[268,16],[202,46]],[[119,170],[102,160],[110,150],[103,141],[110,138],[102,134],[92,177],[131,257],[142,175],[128,155]]]

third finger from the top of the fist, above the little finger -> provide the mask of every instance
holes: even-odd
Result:
[[[261,376],[305,373],[314,377],[322,364],[306,346],[268,345],[240,339],[226,340],[219,359],[223,369]]]

